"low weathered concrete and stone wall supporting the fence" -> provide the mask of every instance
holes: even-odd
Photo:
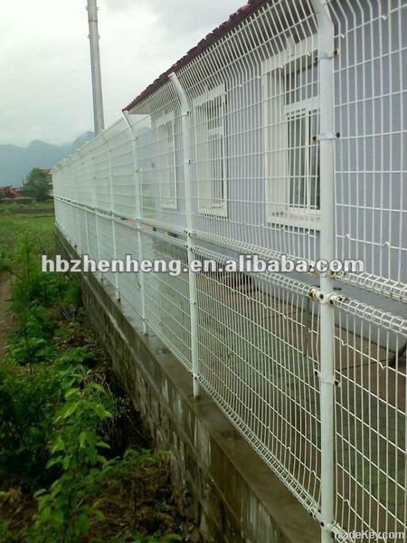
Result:
[[[58,253],[78,258],[60,231]],[[178,505],[205,541],[316,543],[317,521],[271,472],[207,396],[194,402],[192,377],[108,283],[80,276],[83,300],[120,381],[156,446],[172,452]],[[197,534],[191,540],[196,540]]]

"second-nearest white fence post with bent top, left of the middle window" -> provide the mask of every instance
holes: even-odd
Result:
[[[191,359],[193,367],[193,386],[194,386],[194,398],[199,398],[200,385],[199,385],[199,357],[198,357],[198,319],[196,310],[196,275],[191,270],[191,262],[194,260],[194,252],[192,250],[191,232],[193,229],[193,205],[192,205],[192,192],[191,192],[191,157],[190,157],[190,145],[189,145],[189,121],[188,116],[191,110],[188,107],[188,100],[186,100],[185,90],[182,88],[181,83],[176,77],[175,72],[169,74],[169,80],[174,87],[174,90],[181,103],[181,129],[182,129],[182,141],[183,141],[183,157],[184,157],[184,182],[185,182],[185,215],[186,215],[186,248],[188,254],[188,281],[189,281],[189,305],[191,313]]]

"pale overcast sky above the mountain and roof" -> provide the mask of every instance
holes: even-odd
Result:
[[[105,124],[244,0],[99,0]],[[0,144],[93,129],[86,0],[16,0],[0,19]]]

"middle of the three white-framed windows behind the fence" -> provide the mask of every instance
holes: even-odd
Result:
[[[226,216],[224,85],[194,100],[195,165],[198,211]]]

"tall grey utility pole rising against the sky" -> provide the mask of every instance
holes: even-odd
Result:
[[[96,5],[96,0],[88,0],[86,9],[88,10],[89,22],[88,37],[90,41],[90,68],[92,73],[93,119],[95,123],[95,136],[97,136],[101,130],[105,129],[105,120],[101,91],[98,6]]]

